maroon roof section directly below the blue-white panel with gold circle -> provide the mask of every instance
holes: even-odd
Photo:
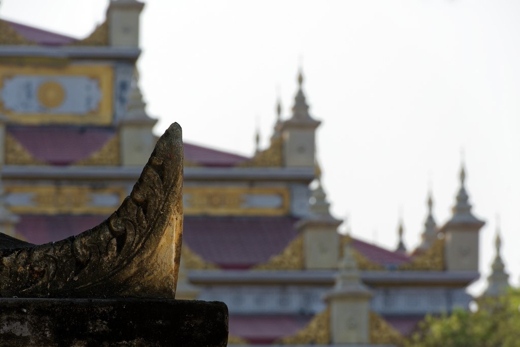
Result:
[[[85,159],[115,135],[114,128],[79,126],[10,126],[7,131],[36,159],[50,165]]]

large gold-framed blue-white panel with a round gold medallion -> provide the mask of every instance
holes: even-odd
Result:
[[[19,98],[0,98],[0,112],[15,124],[109,125],[112,121],[112,80],[110,65],[3,65],[0,66],[0,90],[4,98],[23,83],[29,83],[36,91],[19,96],[24,98],[23,103]],[[6,94],[4,91],[8,88]],[[68,99],[69,89],[74,90],[74,101]],[[77,90],[82,92],[77,94]]]

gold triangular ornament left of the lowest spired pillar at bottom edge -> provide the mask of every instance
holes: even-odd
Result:
[[[329,344],[330,343],[330,308],[318,313],[310,322],[293,336],[283,337],[275,344]]]

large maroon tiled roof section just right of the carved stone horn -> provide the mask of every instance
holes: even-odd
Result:
[[[292,217],[185,216],[183,240],[224,269],[248,269],[280,253],[296,237]]]

